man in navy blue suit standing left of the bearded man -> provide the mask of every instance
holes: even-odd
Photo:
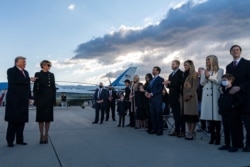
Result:
[[[164,79],[159,76],[160,67],[153,67],[152,74],[154,78],[151,80],[145,96],[149,98],[150,115],[153,124],[153,130],[150,134],[163,135],[163,120],[162,120],[162,90],[164,88]]]

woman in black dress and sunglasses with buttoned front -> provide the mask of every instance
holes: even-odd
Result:
[[[34,104],[36,106],[36,122],[39,124],[40,144],[48,143],[50,122],[53,121],[53,105],[56,100],[54,74],[49,72],[51,62],[43,60],[42,70],[35,73],[36,81],[33,87]]]

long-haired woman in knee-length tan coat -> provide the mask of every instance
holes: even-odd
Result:
[[[198,117],[198,73],[195,71],[194,63],[191,60],[184,62],[184,76],[181,88],[181,111],[187,126],[186,140],[193,140]]]

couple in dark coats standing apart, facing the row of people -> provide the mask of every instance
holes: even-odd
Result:
[[[41,71],[35,77],[29,77],[25,70],[26,58],[18,56],[15,65],[7,70],[8,91],[6,94],[5,121],[8,122],[6,140],[8,147],[16,144],[27,145],[23,131],[29,120],[29,104],[31,99],[36,106],[36,122],[39,125],[40,144],[48,143],[50,122],[53,121],[53,105],[56,99],[54,74],[49,72],[51,62],[43,60]],[[33,96],[30,81],[34,82]]]

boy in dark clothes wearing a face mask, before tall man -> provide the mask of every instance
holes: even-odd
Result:
[[[222,88],[220,89],[221,95],[218,100],[219,113],[222,115],[222,122],[224,127],[225,144],[219,147],[219,150],[228,150],[229,152],[236,152],[239,148],[243,147],[241,129],[241,113],[239,108],[244,103],[241,94],[230,94],[232,83],[235,78],[232,74],[225,74],[222,76]]]

